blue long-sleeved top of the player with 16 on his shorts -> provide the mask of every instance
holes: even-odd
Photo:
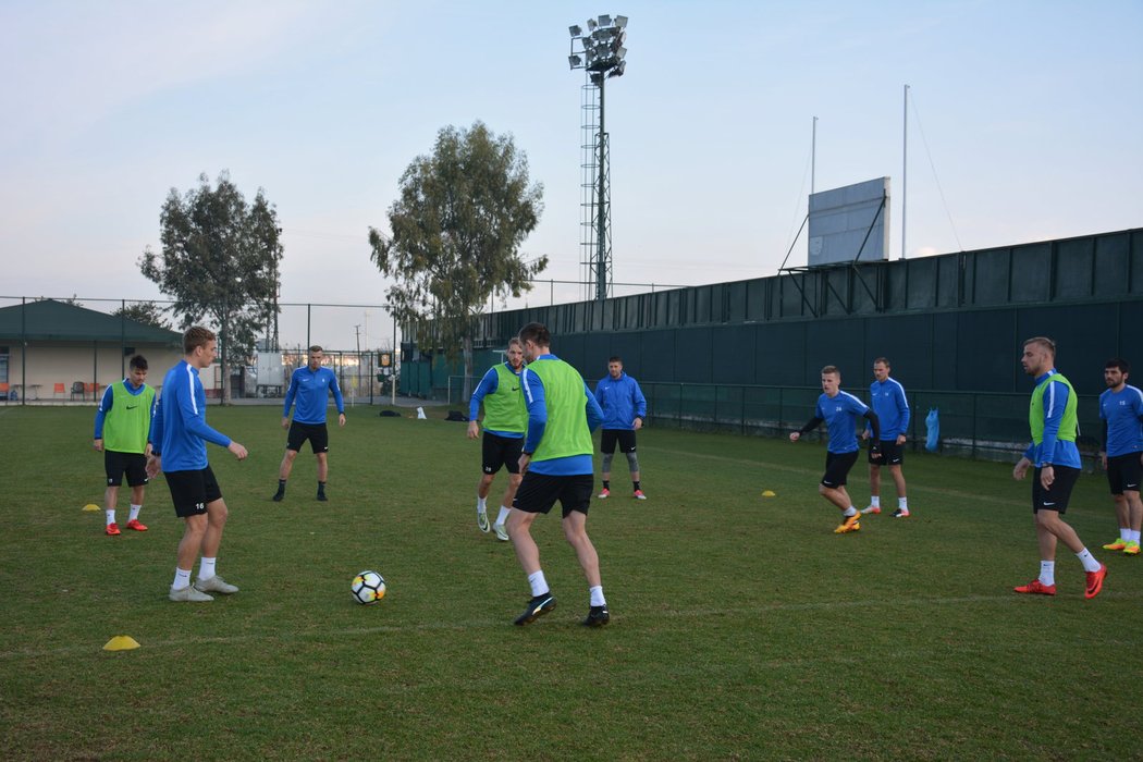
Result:
[[[207,442],[230,447],[230,438],[207,425],[207,393],[198,368],[186,360],[167,371],[151,422],[151,451],[162,456],[163,471],[207,467]]]

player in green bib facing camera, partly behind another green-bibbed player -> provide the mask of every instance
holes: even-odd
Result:
[[[493,487],[493,479],[501,470],[507,470],[507,487],[501,500],[499,515],[493,529],[496,537],[507,542],[504,522],[512,510],[515,490],[520,487],[520,452],[523,450],[523,433],[528,428],[528,409],[520,393],[520,371],[523,368],[523,347],[519,338],[507,343],[507,360],[488,369],[469,400],[469,439],[477,439],[480,425],[480,403],[485,404],[485,436],[481,442],[480,482],[477,484],[477,527],[488,531],[486,500]]]

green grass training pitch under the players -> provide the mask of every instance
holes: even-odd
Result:
[[[109,538],[81,511],[103,497],[94,410],[0,409],[0,756],[1141,755],[1143,559],[1100,550],[1116,535],[1100,474],[1068,518],[1110,569],[1104,592],[1085,601],[1061,548],[1061,594],[1030,599],[1012,593],[1039,563],[1008,465],[910,454],[913,518],[836,536],[821,444],[645,430],[649,499],[620,478],[590,514],[612,624],[578,626],[586,585],[557,512],[535,535],[559,607],[521,628],[528,585],[511,545],[475,529],[464,424],[351,409],[331,427],[330,502],[303,451],[275,504],[279,415],[209,411],[250,450],[210,449],[231,510],[218,572],[242,589],[179,604],[165,481],[151,530]],[[864,466],[850,488],[861,507]],[[373,607],[349,593],[367,568],[389,584]],[[102,650],[123,634],[142,648]]]

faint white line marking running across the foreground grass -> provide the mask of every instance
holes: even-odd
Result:
[[[1140,593],[1110,593],[1104,592],[1100,594],[1100,599],[1113,599],[1117,601],[1134,601],[1143,599],[1143,592]],[[679,610],[663,610],[663,609],[642,609],[634,608],[628,609],[620,612],[616,618],[617,623],[621,624],[625,618],[630,619],[632,623],[653,623],[655,620],[662,619],[694,619],[703,618],[709,619],[711,617],[718,616],[764,616],[767,613],[781,613],[783,611],[830,611],[840,609],[861,609],[870,608],[877,609],[882,607],[900,608],[903,605],[911,607],[936,607],[936,605],[962,605],[966,603],[1001,603],[1010,602],[1015,604],[1017,601],[1030,601],[1032,599],[1025,596],[1017,596],[1015,593],[998,594],[998,595],[959,595],[956,597],[916,597],[916,599],[901,599],[895,597],[892,600],[885,599],[866,599],[866,600],[849,600],[849,601],[817,601],[807,603],[774,603],[770,605],[756,605],[756,607],[736,607],[733,611],[727,609],[679,609]],[[1036,596],[1036,600],[1041,600]],[[1049,604],[1047,600],[1044,604]],[[1098,605],[1098,603],[1086,603],[1079,593],[1076,595],[1064,595],[1062,597],[1055,599],[1052,605]],[[566,631],[573,624],[569,619],[561,626],[558,624],[559,620],[552,619],[551,616],[547,618],[547,627],[551,628],[553,625],[555,628]],[[538,625],[543,628],[545,625]],[[219,644],[219,645],[233,645],[235,643],[256,643],[262,641],[306,641],[306,640],[322,640],[330,636],[339,637],[360,637],[362,635],[377,635],[383,633],[423,633],[423,632],[441,632],[441,631],[456,631],[464,632],[467,629],[483,629],[483,628],[496,628],[503,629],[505,633],[509,632],[520,632],[521,627],[515,627],[511,624],[511,616],[506,612],[503,618],[496,619],[470,619],[469,621],[454,621],[454,623],[423,623],[417,625],[378,625],[376,627],[350,627],[338,631],[329,629],[312,629],[305,632],[296,633],[282,633],[281,631],[275,631],[272,633],[259,633],[259,634],[245,634],[245,635],[221,635],[215,637],[179,637],[179,639],[167,639],[167,640],[154,640],[144,641],[143,647],[145,649],[157,650],[163,648],[187,648],[187,647],[199,647],[206,644]],[[536,626],[527,627],[527,629],[534,629]],[[578,625],[578,619],[575,619],[575,628],[583,629],[586,634],[588,628],[581,627]],[[23,659],[23,658],[43,658],[43,657],[55,657],[55,656],[69,656],[75,653],[91,653],[94,651],[99,651],[103,645],[101,641],[98,644],[90,645],[67,645],[63,648],[51,648],[51,649],[15,649],[9,651],[0,651],[0,660],[8,659]],[[138,651],[136,651],[137,653]]]

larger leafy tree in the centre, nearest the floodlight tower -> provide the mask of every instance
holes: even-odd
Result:
[[[531,289],[547,266],[519,248],[543,210],[543,185],[528,183],[528,158],[510,135],[494,135],[480,121],[446,127],[432,155],[413,160],[389,208],[392,238],[369,228],[370,258],[397,283],[387,299],[393,318],[417,328],[422,346],[464,355],[472,376],[477,316],[491,297]]]

